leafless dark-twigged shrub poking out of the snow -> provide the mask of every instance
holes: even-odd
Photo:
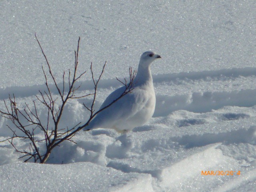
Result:
[[[36,37],[36,34],[35,34]],[[48,77],[46,76],[46,71],[42,67],[42,71],[45,78],[45,85],[46,85],[46,91],[42,92],[39,91],[39,95],[36,96],[36,100],[39,101],[41,104],[44,105],[44,107],[47,109],[48,114],[46,115],[47,119],[41,119],[38,115],[38,108],[35,101],[33,101],[33,108],[29,107],[27,103],[25,103],[25,107],[23,109],[19,109],[16,104],[15,96],[12,95],[12,97],[9,95],[8,102],[4,100],[5,104],[5,111],[0,110],[0,115],[4,118],[9,119],[12,122],[13,127],[8,126],[7,127],[12,131],[13,135],[10,138],[7,138],[6,140],[2,140],[0,142],[8,141],[15,149],[16,152],[19,152],[22,154],[20,158],[24,158],[24,162],[27,162],[30,159],[34,159],[34,162],[40,162],[45,163],[47,159],[50,156],[50,153],[52,150],[64,142],[65,140],[72,141],[73,136],[76,134],[76,132],[82,130],[88,124],[90,121],[96,116],[96,114],[100,113],[102,110],[108,108],[110,105],[112,105],[114,102],[122,98],[122,96],[128,94],[131,92],[134,88],[134,78],[136,75],[136,71],[132,71],[132,68],[129,69],[130,73],[130,81],[127,82],[121,82],[125,86],[124,92],[112,103],[110,103],[108,106],[98,110],[94,111],[94,103],[96,100],[96,93],[98,88],[98,83],[100,82],[100,78],[102,77],[102,74],[104,72],[104,68],[106,66],[106,62],[103,65],[102,71],[100,73],[100,76],[96,80],[93,74],[92,70],[92,63],[90,66],[90,72],[92,75],[92,81],[94,83],[94,92],[91,94],[86,94],[83,96],[76,96],[76,91],[80,88],[80,86],[75,86],[76,82],[86,73],[86,71],[82,72],[81,74],[77,74],[78,69],[78,52],[79,52],[79,43],[80,43],[80,37],[78,38],[78,45],[77,49],[75,50],[75,62],[74,62],[74,71],[70,72],[68,70],[68,88],[67,91],[65,91],[65,72],[63,72],[63,78],[62,78],[62,84],[61,86],[57,84],[56,78],[54,77],[52,73],[51,66],[47,60],[46,55],[44,54],[44,51],[40,45],[40,42],[38,38],[36,37],[36,40],[38,42],[38,45],[40,46],[40,49],[42,51],[42,54],[46,60],[47,63],[47,69],[50,74],[50,80],[54,83],[54,88],[57,89],[57,97],[54,98],[54,95],[52,94],[52,89],[50,88],[48,82]],[[93,95],[92,104],[90,106],[86,106],[84,104],[84,107],[90,112],[90,118],[87,120],[86,123],[82,124],[82,122],[75,124],[71,127],[60,127],[59,124],[62,121],[62,114],[64,112],[64,106],[66,105],[67,101],[70,99],[79,99],[84,98],[87,96]],[[56,104],[56,101],[60,100],[60,105]],[[26,120],[24,123],[24,119]],[[53,126],[50,125],[50,122],[54,122]],[[46,123],[45,123],[46,122]],[[35,131],[40,130],[44,134],[43,140],[37,140],[35,136]],[[16,133],[21,131],[20,134]],[[29,140],[30,146],[27,149],[18,149],[14,144],[14,139],[22,139],[22,140]],[[39,150],[38,143],[44,142],[46,149]],[[74,142],[75,143],[75,142]]]

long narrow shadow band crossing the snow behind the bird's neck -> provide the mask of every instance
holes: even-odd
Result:
[[[221,70],[212,70],[212,71],[200,71],[200,72],[181,72],[173,74],[159,74],[153,75],[153,81],[156,82],[166,82],[174,81],[176,79],[190,79],[190,80],[199,80],[207,77],[239,77],[239,76],[252,76],[256,75],[256,68],[246,67],[246,68],[232,68],[232,69],[221,69]],[[82,84],[81,84],[82,83]],[[80,86],[81,84],[81,86]],[[59,87],[63,87],[62,83],[58,84]],[[94,84],[92,80],[86,80],[83,82],[78,82],[76,87],[80,86],[79,90],[93,90]],[[120,82],[113,79],[104,79],[101,80],[98,88],[110,88],[121,86]],[[55,88],[54,84],[49,85],[52,93],[58,94],[58,90]],[[68,88],[68,83],[65,84],[65,88]],[[28,97],[38,94],[39,92],[44,92],[46,90],[45,84],[34,85],[34,86],[14,86],[0,89],[0,99],[6,99],[9,97],[9,94],[14,94],[16,97]],[[66,89],[65,89],[66,90]]]

